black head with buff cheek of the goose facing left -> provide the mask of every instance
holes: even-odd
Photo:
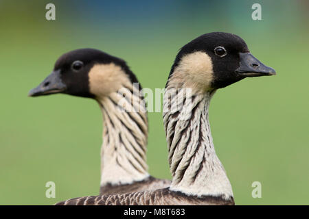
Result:
[[[97,49],[77,49],[61,55],[52,73],[28,96],[62,93],[96,99],[126,83],[138,81],[124,60]]]

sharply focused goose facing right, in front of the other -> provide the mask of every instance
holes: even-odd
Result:
[[[214,149],[208,108],[216,90],[246,77],[275,75],[234,34],[204,34],[176,55],[165,86],[163,124],[172,183],[155,191],[71,198],[56,205],[234,205]]]

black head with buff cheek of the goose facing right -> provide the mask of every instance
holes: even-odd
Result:
[[[249,51],[239,36],[223,32],[203,34],[176,55],[168,86],[195,92],[216,90],[246,77],[275,75]]]

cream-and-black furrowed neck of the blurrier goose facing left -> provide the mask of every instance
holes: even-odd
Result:
[[[149,177],[146,164],[148,120],[139,88],[123,87],[98,99],[103,114],[101,186]]]

